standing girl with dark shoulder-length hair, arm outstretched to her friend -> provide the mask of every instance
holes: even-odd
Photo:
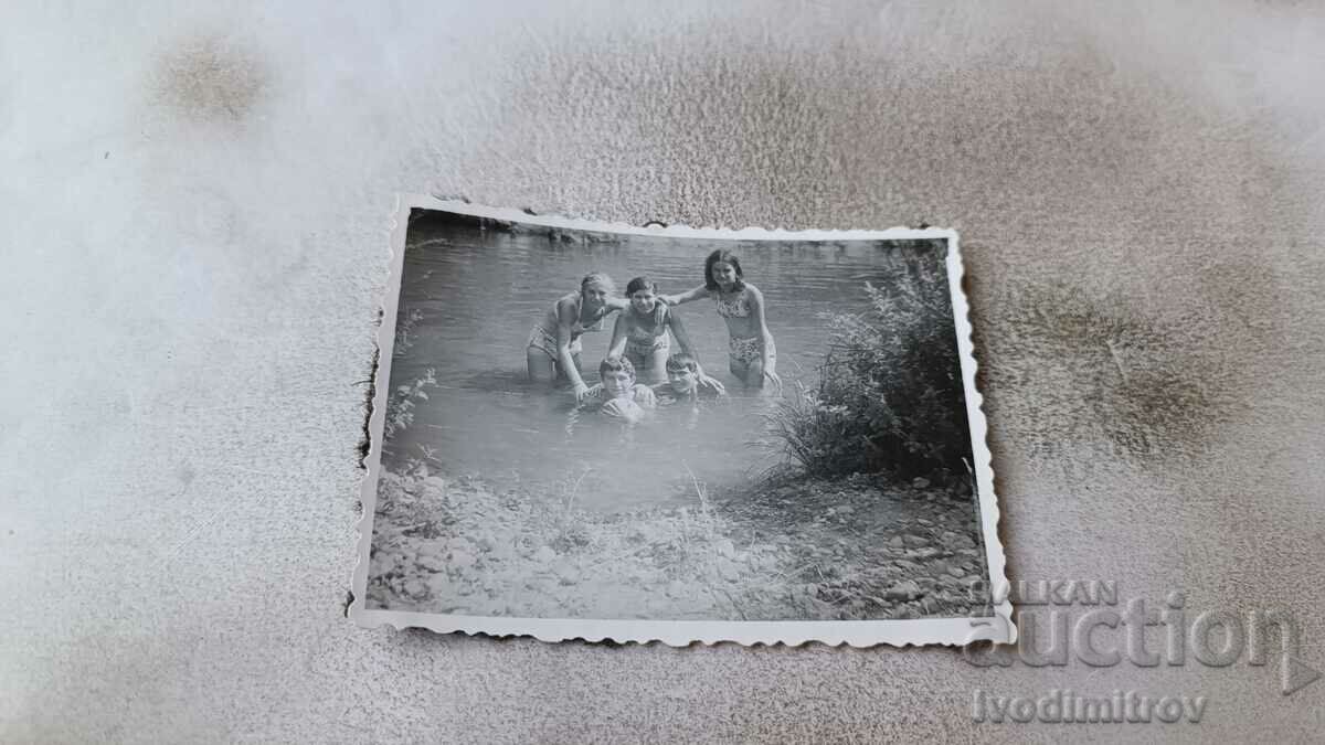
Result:
[[[669,305],[712,297],[718,315],[727,322],[731,338],[727,359],[731,374],[747,387],[762,388],[771,382],[779,391],[778,347],[772,342],[768,323],[763,317],[763,293],[745,281],[741,260],[731,252],[718,249],[704,262],[704,284],[693,290],[664,297]]]

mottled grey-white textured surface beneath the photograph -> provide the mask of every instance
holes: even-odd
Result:
[[[607,648],[341,615],[398,191],[962,231],[1014,577],[1280,606],[1325,664],[1325,17],[1304,3],[0,11],[0,738],[995,740],[974,688],[1273,668]],[[1110,353],[1110,343],[1113,351]]]

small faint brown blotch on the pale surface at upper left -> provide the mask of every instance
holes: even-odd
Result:
[[[163,53],[154,81],[160,102],[184,117],[236,125],[268,94],[272,73],[248,45],[201,36]]]

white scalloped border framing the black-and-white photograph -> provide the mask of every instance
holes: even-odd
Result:
[[[409,215],[413,209],[428,209],[464,215],[474,219],[488,219],[502,223],[538,225],[560,231],[588,231],[594,233],[617,233],[653,236],[665,239],[698,240],[739,240],[739,241],[872,241],[872,240],[917,240],[945,239],[947,243],[946,269],[951,294],[951,310],[955,323],[957,349],[961,363],[962,386],[965,390],[966,416],[970,426],[971,456],[970,465],[977,487],[979,509],[979,532],[984,547],[983,563],[987,569],[988,601],[983,612],[957,618],[904,618],[878,620],[651,620],[651,619],[583,619],[583,618],[515,618],[502,615],[457,615],[440,612],[412,612],[403,610],[378,610],[370,607],[368,574],[372,551],[374,518],[378,508],[379,480],[383,476],[384,427],[387,426],[388,399],[391,395],[391,367],[398,339],[398,309],[400,306],[401,273],[405,256]],[[662,642],[669,646],[689,646],[696,642],[713,644],[735,642],[739,644],[788,644],[799,646],[810,642],[824,644],[851,644],[872,647],[890,644],[896,647],[947,644],[961,646],[973,642],[1012,643],[1016,640],[1016,627],[1012,623],[1012,606],[1006,599],[1007,587],[1003,545],[998,534],[999,505],[994,492],[994,472],[987,445],[987,424],[982,411],[982,396],[975,387],[977,362],[971,341],[969,306],[962,290],[963,266],[958,247],[958,235],[941,228],[889,228],[881,231],[768,231],[746,228],[739,231],[716,228],[633,227],[624,224],[595,223],[555,216],[534,216],[525,211],[492,208],[456,200],[441,200],[432,196],[401,195],[398,198],[395,221],[391,232],[391,274],[382,301],[382,322],[378,329],[378,370],[374,378],[371,415],[368,418],[367,456],[363,460],[366,476],[362,487],[362,517],[358,522],[358,561],[352,579],[352,602],[348,616],[362,627],[391,624],[398,630],[415,627],[435,632],[485,634],[492,636],[533,636],[543,642],[583,639],[586,642],[612,640],[616,643]],[[586,367],[590,365],[586,361]],[[596,365],[596,361],[592,362]]]

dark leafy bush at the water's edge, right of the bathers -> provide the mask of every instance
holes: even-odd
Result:
[[[771,416],[782,449],[812,476],[888,472],[965,481],[970,451],[942,255],[909,256],[906,277],[865,284],[869,310],[825,314],[818,388],[798,386]]]

